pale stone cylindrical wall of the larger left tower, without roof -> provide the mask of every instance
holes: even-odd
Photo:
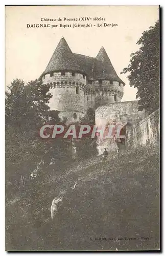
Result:
[[[50,93],[53,97],[50,99],[49,106],[51,110],[60,111],[59,117],[66,118],[70,121],[78,121],[84,116],[84,89],[86,86],[86,76],[72,72],[53,72],[43,76],[44,84],[51,84]],[[61,113],[63,112],[63,113]],[[76,114],[76,115],[75,115]]]

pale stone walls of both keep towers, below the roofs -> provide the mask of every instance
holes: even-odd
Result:
[[[97,109],[98,106],[120,102],[123,97],[122,83],[101,79],[86,84],[85,75],[72,71],[51,72],[43,75],[42,81],[43,86],[51,85],[51,110],[64,112],[59,116],[68,120],[73,119],[74,113],[82,117],[89,108]]]

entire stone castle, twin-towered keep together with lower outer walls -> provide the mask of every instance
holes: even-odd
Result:
[[[126,137],[133,147],[159,141],[159,111],[148,116],[138,111],[137,100],[121,102],[125,83],[103,47],[96,58],[89,57],[73,53],[62,37],[40,78],[43,86],[50,84],[50,109],[59,111],[61,120],[77,122],[92,108],[98,126],[109,121],[131,124]],[[99,153],[104,147],[111,151],[111,142],[101,141]]]

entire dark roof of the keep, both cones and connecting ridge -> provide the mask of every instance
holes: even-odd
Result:
[[[62,37],[59,41],[48,66],[42,73],[50,73],[57,70],[72,70],[87,75],[88,79],[111,79],[125,83],[117,76],[112,63],[102,47],[96,58],[73,53],[66,40]]]

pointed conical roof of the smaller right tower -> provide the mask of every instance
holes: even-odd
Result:
[[[112,79],[115,81],[119,81],[124,83],[119,76],[117,76],[112,63],[104,49],[104,47],[102,47],[98,53],[98,55],[96,56],[96,59],[100,60],[102,63],[102,74],[101,77],[102,79]]]

